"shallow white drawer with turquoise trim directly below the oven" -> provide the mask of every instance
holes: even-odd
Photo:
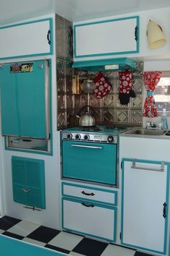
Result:
[[[69,184],[63,184],[63,195],[69,197],[80,197],[97,202],[106,202],[117,205],[117,192],[109,190],[98,190],[92,187],[75,187]]]

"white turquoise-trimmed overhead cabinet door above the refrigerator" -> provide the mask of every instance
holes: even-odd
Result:
[[[53,54],[53,20],[0,27],[0,59]]]

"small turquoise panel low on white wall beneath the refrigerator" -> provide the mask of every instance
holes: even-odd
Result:
[[[44,161],[12,157],[12,185],[15,202],[45,208]]]

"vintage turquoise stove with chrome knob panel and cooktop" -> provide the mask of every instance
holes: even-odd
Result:
[[[117,186],[118,135],[122,131],[115,127],[62,130],[62,179]]]

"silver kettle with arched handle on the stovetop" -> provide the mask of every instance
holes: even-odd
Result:
[[[92,114],[88,113],[88,107],[91,108]],[[81,115],[81,112],[84,111],[87,108],[87,111],[85,111],[85,114]],[[79,118],[79,126],[80,127],[93,127],[95,125],[95,119],[94,119],[94,108],[92,108],[89,105],[83,106],[79,113],[76,115],[76,117]]]

